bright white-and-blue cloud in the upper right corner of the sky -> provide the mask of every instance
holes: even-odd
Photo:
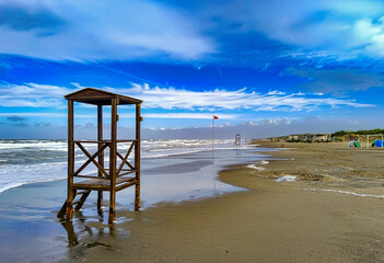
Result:
[[[291,45],[293,50],[284,55],[338,59],[360,55],[384,57],[382,1],[269,0],[244,1],[244,7],[241,12],[223,11],[222,15],[244,22],[242,32],[260,32]]]

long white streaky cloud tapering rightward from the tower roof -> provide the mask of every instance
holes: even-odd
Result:
[[[148,84],[132,84],[129,89],[106,88],[109,91],[131,94],[141,98],[143,106],[148,108],[185,108],[201,110],[254,110],[254,111],[288,111],[313,110],[319,106],[347,105],[351,107],[369,107],[371,104],[358,103],[353,100],[340,100],[325,96],[305,96],[304,93],[286,94],[276,91],[272,94],[247,92],[246,89],[237,91],[188,91],[174,88],[150,88]]]

